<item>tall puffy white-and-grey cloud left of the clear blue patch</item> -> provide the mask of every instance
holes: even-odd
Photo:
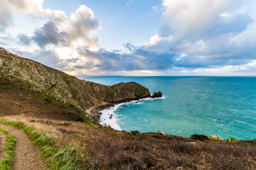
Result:
[[[70,18],[71,20],[64,12],[54,11],[50,21],[41,28],[36,28],[30,40],[36,42],[39,47],[70,47],[77,43],[84,48],[97,47],[97,38],[88,36],[100,27],[100,20],[94,16],[92,10],[81,5]],[[22,38],[25,39],[25,35]]]

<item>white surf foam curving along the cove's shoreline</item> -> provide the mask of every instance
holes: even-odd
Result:
[[[162,96],[162,97],[158,97],[158,98],[151,98],[151,97],[147,97],[144,99],[139,99],[139,100],[132,100],[130,102],[123,102],[120,104],[116,104],[113,107],[110,108],[106,108],[104,110],[101,110],[100,112],[102,112],[102,115],[100,116],[100,124],[101,125],[110,125],[113,129],[115,130],[122,130],[120,128],[120,119],[117,118],[117,115],[115,115],[115,110],[117,110],[119,107],[122,107],[123,105],[140,105],[143,102],[146,102],[148,100],[160,100],[160,99],[166,99],[166,96]],[[135,113],[136,114],[136,113]],[[112,115],[110,118],[110,115]],[[139,117],[141,118],[141,117]],[[148,121],[144,118],[145,121]]]

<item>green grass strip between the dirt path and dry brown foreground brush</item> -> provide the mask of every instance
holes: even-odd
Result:
[[[23,130],[41,152],[41,156],[51,170],[79,170],[82,166],[82,160],[86,160],[82,151],[77,146],[67,145],[59,148],[57,145],[58,138],[53,135],[41,133],[23,122],[1,119],[0,123],[12,125],[15,128]],[[89,162],[88,164],[90,167]]]

